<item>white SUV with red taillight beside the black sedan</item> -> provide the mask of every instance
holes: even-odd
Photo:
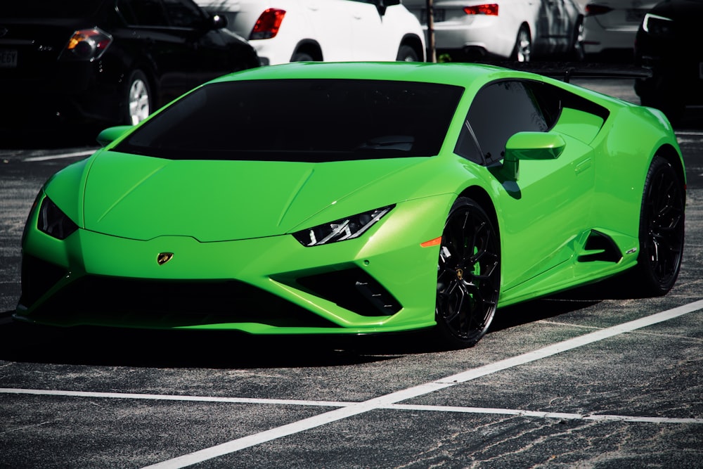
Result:
[[[262,65],[316,61],[425,61],[425,34],[400,0],[196,0],[226,16]]]

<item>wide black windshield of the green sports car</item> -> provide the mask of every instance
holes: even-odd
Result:
[[[114,150],[172,160],[326,162],[439,153],[460,86],[285,79],[202,86]]]

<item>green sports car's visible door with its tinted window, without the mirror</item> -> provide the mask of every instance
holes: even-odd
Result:
[[[519,278],[534,278],[569,260],[576,238],[591,227],[595,170],[593,149],[562,137],[563,153],[553,160],[520,160],[516,181],[498,170],[505,143],[520,131],[548,131],[555,124],[560,100],[539,82],[503,80],[484,86],[467,115],[480,158],[495,169],[502,184],[497,210],[503,239],[503,290]],[[543,105],[540,105],[542,103]],[[544,105],[548,103],[548,105]]]

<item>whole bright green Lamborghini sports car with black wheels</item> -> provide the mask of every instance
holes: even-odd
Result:
[[[681,266],[666,117],[528,72],[258,68],[98,141],[37,196],[15,319],[458,348],[497,307],[624,271],[664,295]]]

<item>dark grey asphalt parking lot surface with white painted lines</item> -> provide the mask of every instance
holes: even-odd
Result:
[[[575,82],[637,102],[631,80]],[[703,467],[702,114],[676,128],[687,233],[669,295],[614,278],[501,309],[458,352],[420,334],[13,323],[34,195],[93,147],[0,149],[0,468]]]

